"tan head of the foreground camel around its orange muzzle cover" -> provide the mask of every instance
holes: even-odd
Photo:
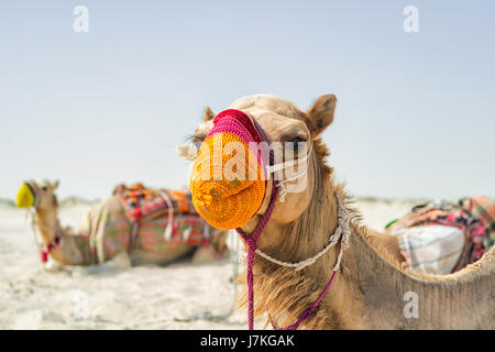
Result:
[[[307,111],[301,111],[287,100],[274,96],[256,95],[238,99],[230,105],[229,109],[240,110],[255,120],[270,143],[279,142],[282,146],[292,143],[294,156],[290,156],[294,160],[309,154],[304,175],[286,184],[286,187],[294,191],[289,190],[284,201],[277,199],[271,217],[272,224],[284,226],[299,218],[308,208],[315,187],[318,187],[317,179],[321,179],[328,173],[329,168],[322,163],[328,152],[321,143],[320,135],[333,121],[336,103],[336,96],[326,95],[318,98]],[[196,128],[193,142],[204,142],[213,127],[215,118],[216,114],[207,108],[204,122]],[[280,155],[285,162],[286,152],[284,151]],[[297,172],[298,169],[295,168],[296,174]],[[255,215],[241,226],[244,232],[250,233],[256,228],[271,202],[272,188],[273,177],[270,177],[262,205]]]

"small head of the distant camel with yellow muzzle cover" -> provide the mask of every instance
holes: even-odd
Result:
[[[34,207],[36,211],[52,210],[58,207],[55,189],[58,180],[51,183],[46,179],[25,182],[18,191],[16,206],[19,208]]]

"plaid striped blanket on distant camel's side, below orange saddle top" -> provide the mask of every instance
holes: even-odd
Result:
[[[89,211],[76,235],[85,264],[103,263],[130,249],[163,251],[170,246],[191,248],[211,243],[219,252],[227,250],[224,245],[217,244],[224,243],[228,231],[212,228],[198,215],[182,212],[179,209],[174,211],[172,218],[167,211],[145,219],[147,212],[142,211],[138,217],[142,220],[133,238],[132,227],[138,218],[130,217],[130,209],[120,195],[114,195]]]

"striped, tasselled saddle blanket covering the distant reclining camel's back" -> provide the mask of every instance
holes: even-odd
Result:
[[[85,264],[98,264],[130,249],[164,251],[212,244],[223,253],[228,233],[196,213],[188,193],[119,185],[111,198],[89,211],[77,243]]]

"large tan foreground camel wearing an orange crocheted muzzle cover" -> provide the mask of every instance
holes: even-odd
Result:
[[[449,275],[426,275],[404,267],[395,238],[369,230],[350,208],[344,186],[326,163],[329,151],[321,133],[333,121],[337,98],[321,96],[306,111],[267,95],[241,98],[229,109],[254,119],[271,141],[312,141],[305,178],[307,186],[277,200],[257,242],[258,249],[283,262],[316,255],[329,243],[338,226],[338,199],[354,220],[349,248],[328,293],[304,329],[495,329],[495,250]],[[207,108],[193,142],[202,142],[215,113]],[[351,136],[352,138],[352,136]],[[359,141],[356,141],[359,143]],[[190,157],[189,157],[190,158]],[[295,180],[298,182],[298,180]],[[251,220],[241,227],[248,238],[271,202],[273,179],[265,199]],[[295,271],[255,255],[254,315],[266,315],[275,327],[287,327],[310,307],[324,289],[338,257],[331,248],[311,265]],[[240,306],[246,305],[246,294]],[[268,323],[268,321],[267,321]]]

